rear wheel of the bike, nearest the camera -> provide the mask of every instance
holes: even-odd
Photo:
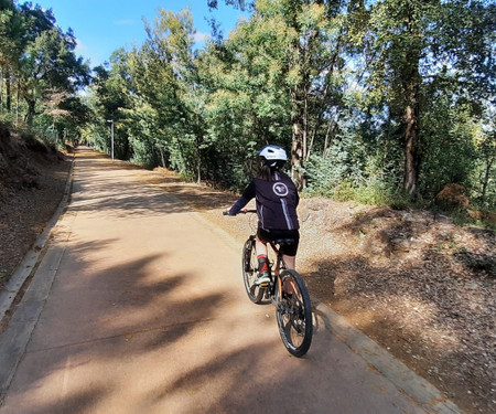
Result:
[[[310,295],[295,270],[285,269],[280,277],[282,291],[278,293],[276,309],[279,333],[291,354],[303,357],[310,349],[313,335]]]

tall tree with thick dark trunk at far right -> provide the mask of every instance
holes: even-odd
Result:
[[[371,83],[381,91],[402,125],[405,191],[414,195],[421,171],[421,120],[424,86],[455,82],[459,96],[494,89],[494,56],[482,1],[380,0],[368,22],[369,53],[375,56]],[[494,9],[494,6],[493,6]]]

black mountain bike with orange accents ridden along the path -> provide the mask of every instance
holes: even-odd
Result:
[[[256,210],[242,210],[240,213],[257,213]],[[227,215],[227,212],[224,212]],[[276,240],[270,244],[276,254],[276,263],[270,263],[270,282],[257,285],[258,259],[255,250],[256,235],[248,237],[242,246],[242,280],[249,299],[261,304],[263,299],[276,306],[276,319],[279,333],[288,351],[303,357],[312,343],[312,306],[303,278],[296,270],[287,268],[281,246],[294,243],[292,238]],[[274,265],[276,264],[276,265]]]

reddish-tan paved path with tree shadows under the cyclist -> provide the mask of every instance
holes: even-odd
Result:
[[[143,171],[89,151],[75,162],[0,338],[1,414],[457,412],[322,306],[309,354],[291,357],[273,308],[246,297],[238,243]]]

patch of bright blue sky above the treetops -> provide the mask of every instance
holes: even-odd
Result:
[[[19,1],[23,3],[24,1]],[[159,9],[177,12],[190,6],[197,29],[197,46],[211,29],[205,18],[222,24],[224,36],[234,29],[241,13],[218,1],[218,9],[208,10],[207,0],[32,0],[43,9],[52,9],[56,24],[64,31],[72,28],[77,38],[76,54],[88,59],[90,66],[108,61],[119,49],[141,45],[145,40],[142,18],[153,22]]]

